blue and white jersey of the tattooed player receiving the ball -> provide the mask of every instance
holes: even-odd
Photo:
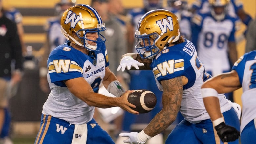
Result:
[[[183,86],[183,97],[180,112],[186,120],[191,123],[198,123],[209,119],[210,116],[205,110],[203,98],[200,92],[201,85],[211,77],[205,72],[202,61],[199,60],[195,46],[189,40],[181,44],[168,47],[162,50],[150,65],[158,87],[162,90],[160,81],[168,80],[179,76],[188,78],[188,83]],[[230,110],[229,102],[224,94],[218,95],[221,112]]]

